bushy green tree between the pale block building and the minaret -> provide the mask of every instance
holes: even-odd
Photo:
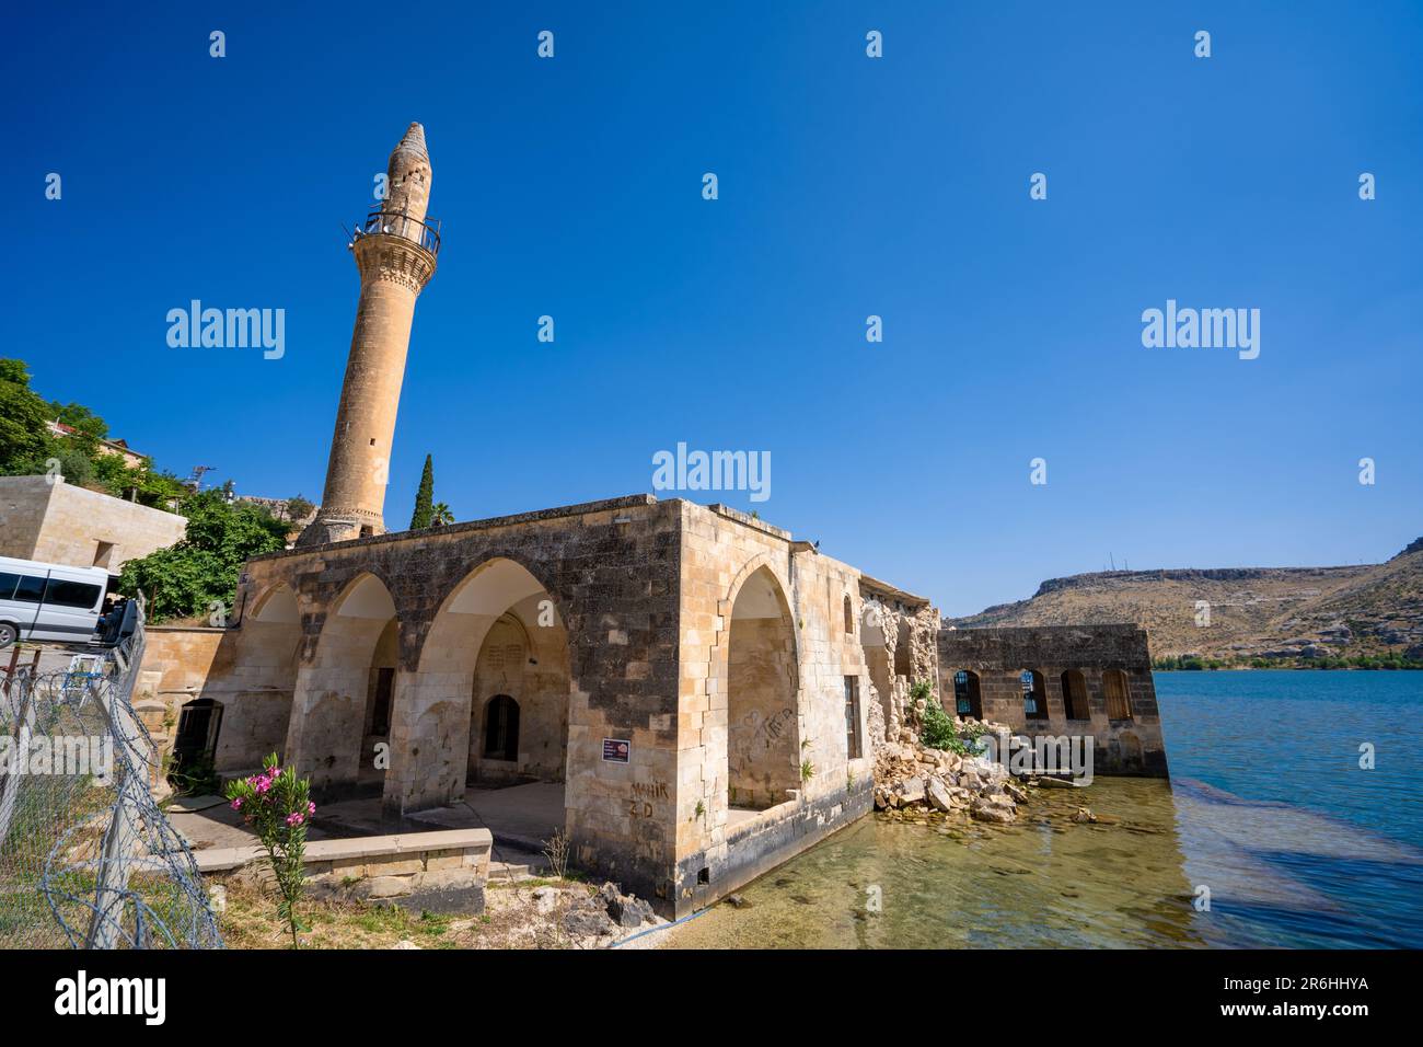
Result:
[[[249,501],[229,506],[216,490],[189,496],[178,511],[188,517],[184,540],[124,564],[120,593],[149,597],[148,615],[155,624],[206,618],[218,610],[225,618],[242,566],[283,548],[286,524]]]

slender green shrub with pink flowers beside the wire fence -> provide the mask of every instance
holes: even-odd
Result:
[[[280,766],[273,752],[262,762],[260,772],[228,782],[226,796],[268,852],[279,896],[276,910],[290,927],[292,947],[296,949],[296,933],[305,930],[296,912],[306,875],[302,855],[306,850],[306,826],[316,813],[310,782],[297,778],[295,768]]]

